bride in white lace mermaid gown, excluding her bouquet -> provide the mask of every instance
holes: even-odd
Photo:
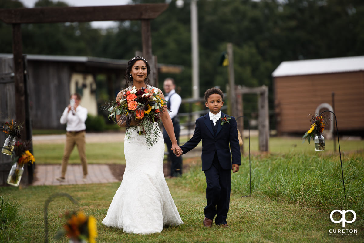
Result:
[[[128,61],[125,79],[132,83],[131,87],[152,89],[148,85],[150,67],[143,57],[134,57]],[[162,99],[163,93],[160,89]],[[116,100],[123,95],[120,91]],[[119,121],[120,115],[116,116]],[[172,150],[176,156],[182,154],[174,135],[172,120],[168,112],[162,112],[161,119],[166,131],[173,142]],[[121,121],[118,125],[125,126]],[[136,121],[130,125],[138,125]],[[158,126],[154,123],[154,126]],[[134,234],[153,234],[161,232],[163,226],[178,226],[183,224],[174,204],[163,174],[164,140],[162,132],[153,147],[147,147],[144,135],[138,135],[137,129],[129,128],[130,137],[125,138],[124,154],[126,168],[120,187],[102,220],[105,226],[123,229],[124,232]]]

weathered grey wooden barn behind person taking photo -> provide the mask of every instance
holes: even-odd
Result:
[[[0,54],[1,58],[12,54]],[[33,128],[62,129],[59,123],[71,93],[82,95],[81,105],[97,115],[96,75],[107,76],[110,97],[124,87],[128,60],[87,56],[27,55],[29,109]],[[158,64],[159,72],[180,72],[182,67]]]

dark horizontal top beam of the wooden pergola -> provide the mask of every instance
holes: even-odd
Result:
[[[167,8],[168,4],[158,3],[97,7],[0,9],[0,20],[7,24],[147,20],[155,19]]]

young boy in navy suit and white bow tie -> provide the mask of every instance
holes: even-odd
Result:
[[[228,227],[226,218],[230,202],[231,170],[238,172],[241,165],[236,120],[220,111],[223,97],[220,89],[207,89],[205,105],[210,112],[196,120],[192,138],[181,146],[185,154],[202,139],[202,171],[205,172],[207,185],[207,206],[203,219],[206,227],[211,227],[215,216],[217,225]]]

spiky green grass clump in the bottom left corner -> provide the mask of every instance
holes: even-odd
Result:
[[[19,214],[21,203],[0,196],[0,242],[23,242],[25,216]]]

